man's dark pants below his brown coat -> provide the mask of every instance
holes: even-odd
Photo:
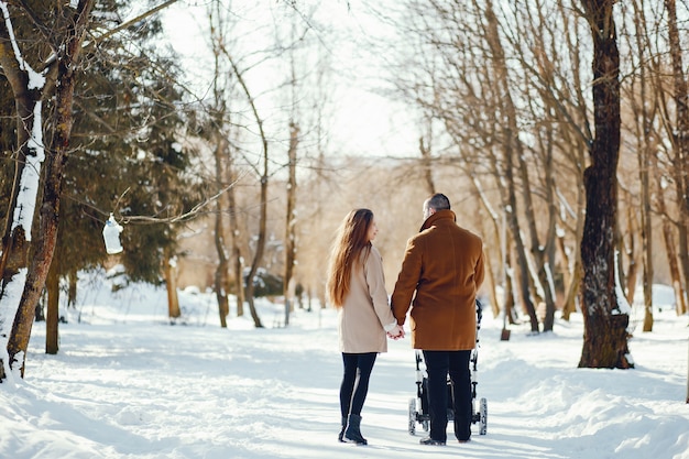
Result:
[[[471,436],[471,351],[424,351],[428,372],[430,438],[447,441],[448,390],[447,374],[455,385],[455,436],[468,440]]]

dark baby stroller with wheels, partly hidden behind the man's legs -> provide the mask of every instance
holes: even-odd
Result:
[[[479,434],[485,435],[488,420],[488,403],[485,398],[479,402],[479,411],[475,409],[477,401],[477,363],[479,360],[479,330],[481,329],[482,306],[477,299],[477,346],[471,350],[469,367],[471,370],[471,423],[479,423]],[[430,428],[430,414],[428,411],[428,374],[424,363],[424,354],[416,350],[416,397],[409,398],[409,435],[416,434],[416,423],[420,424],[425,431]],[[422,365],[423,364],[423,365]],[[455,420],[452,409],[453,387],[450,376],[447,378],[448,408],[447,417],[449,422]]]

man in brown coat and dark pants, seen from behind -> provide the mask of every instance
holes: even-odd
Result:
[[[448,373],[455,386],[455,436],[459,442],[471,436],[469,360],[477,341],[475,297],[483,282],[483,242],[456,219],[445,195],[435,194],[424,201],[424,225],[407,241],[391,299],[398,325],[404,325],[412,308],[412,347],[423,350],[428,372],[430,435],[422,445],[447,441]]]

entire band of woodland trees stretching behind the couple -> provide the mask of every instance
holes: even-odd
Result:
[[[80,270],[111,262],[100,237],[110,212],[127,228],[117,261],[130,281],[166,285],[171,320],[189,229],[212,226],[204,232],[221,326],[230,294],[263,326],[253,299],[266,267],[282,277],[286,325],[297,289],[325,304],[338,211],[375,207],[394,228],[381,242],[394,262],[393,244],[415,230],[408,203],[448,189],[469,197],[460,203],[474,211],[462,214],[486,241],[494,314],[524,312],[539,332],[578,307],[581,367],[633,365],[624,303],[641,278],[652,330],[654,263],[668,266],[678,314],[687,312],[683,4],[362,7],[394,33],[357,43],[418,130],[406,156],[369,162],[329,143],[332,88],[357,70],[332,62],[342,31],[320,21],[324,8],[348,4],[260,4],[274,21],[256,29],[239,7],[209,2],[200,97],[160,45],[157,12],[174,1],[134,19],[117,0],[48,3],[0,2],[0,380],[23,374],[44,292],[46,351],[57,351],[61,283],[74,298]],[[267,266],[271,251],[280,260]]]

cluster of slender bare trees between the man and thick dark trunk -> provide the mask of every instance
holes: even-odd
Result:
[[[591,136],[581,28],[567,2],[408,3],[404,36],[423,39],[415,56],[406,57],[415,64],[401,59],[415,68],[415,78],[397,86],[445,122],[450,142],[439,155],[452,157],[472,182],[490,189],[491,206],[505,212],[516,261],[505,272],[518,280],[532,330],[538,331],[540,304],[543,329],[551,330],[562,285],[556,281],[565,280],[564,314],[569,314],[580,278],[576,249],[583,232],[582,176]],[[490,218],[488,207],[483,210]]]

